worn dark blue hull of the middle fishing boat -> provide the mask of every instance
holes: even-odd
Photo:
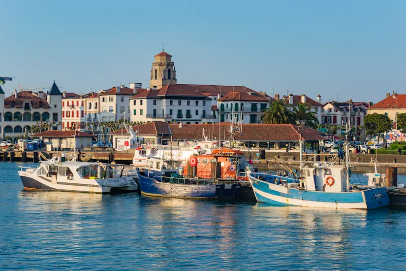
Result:
[[[186,199],[232,199],[238,196],[238,184],[192,185],[157,181],[138,174],[141,193],[148,196]]]

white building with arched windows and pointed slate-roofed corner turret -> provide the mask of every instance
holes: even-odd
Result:
[[[15,137],[29,132],[32,125],[54,122],[52,130],[60,130],[62,122],[62,93],[54,82],[48,93],[14,90],[4,98],[0,87],[1,135]]]

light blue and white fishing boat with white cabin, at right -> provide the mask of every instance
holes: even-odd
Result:
[[[348,133],[348,127],[347,127]],[[347,141],[346,141],[347,144]],[[323,208],[373,209],[389,205],[387,188],[351,185],[346,148],[345,165],[314,163],[303,166],[300,138],[300,177],[294,180],[251,172],[247,175],[258,202]]]

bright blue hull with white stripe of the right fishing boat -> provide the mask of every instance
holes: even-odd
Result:
[[[389,206],[385,187],[353,192],[305,191],[258,180],[250,176],[258,202],[322,208],[374,209]]]

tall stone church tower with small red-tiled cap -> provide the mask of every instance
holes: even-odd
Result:
[[[152,63],[150,87],[158,89],[169,84],[176,84],[174,63],[172,56],[162,50]]]

